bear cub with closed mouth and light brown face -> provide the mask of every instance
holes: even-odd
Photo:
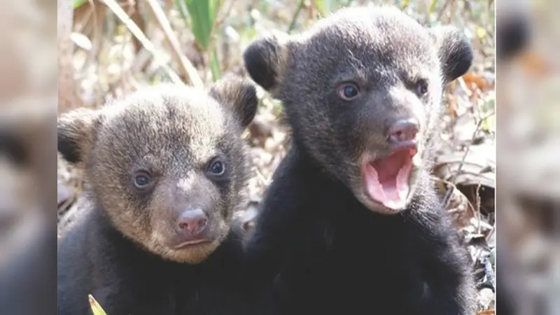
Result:
[[[251,314],[240,235],[248,80],[161,85],[58,121],[58,150],[85,167],[91,209],[59,244],[59,315]],[[258,314],[261,314],[258,312]]]

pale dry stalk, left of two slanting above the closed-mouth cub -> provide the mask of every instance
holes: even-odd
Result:
[[[123,10],[123,8],[121,8],[119,4],[116,3],[115,0],[100,0],[100,1],[103,1],[103,3],[105,3],[106,6],[108,6],[113,11],[113,13],[115,13],[117,18],[119,18],[119,20],[125,24],[127,29],[129,29],[130,32],[134,36],[136,36],[136,38],[138,38],[138,40],[140,41],[140,43],[142,43],[144,48],[146,48],[146,50],[152,53],[155,64],[161,66],[162,69],[164,69],[164,71],[167,72],[167,75],[169,76],[169,78],[171,78],[171,80],[174,83],[184,84],[181,78],[179,78],[179,76],[177,75],[177,73],[175,73],[173,69],[171,69],[169,66],[167,66],[167,64],[163,62],[165,58],[163,57],[162,53],[155,48],[153,43],[146,37],[146,35],[144,35],[144,33],[141,31],[138,25],[134,24],[132,19],[127,15],[127,13],[125,13],[125,10]]]

